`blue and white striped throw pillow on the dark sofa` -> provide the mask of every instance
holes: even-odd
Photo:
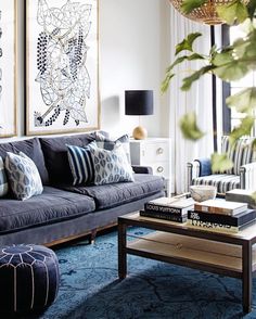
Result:
[[[94,179],[94,168],[91,157],[91,150],[97,148],[91,142],[85,148],[67,145],[67,156],[73,175],[73,184],[91,183]]]

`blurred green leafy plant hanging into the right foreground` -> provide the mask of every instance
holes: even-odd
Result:
[[[172,1],[175,7],[179,7],[178,9],[185,16],[193,13],[193,10],[208,4],[213,5],[213,2],[215,2],[213,0],[170,0],[170,2]],[[166,77],[162,82],[162,92],[165,92],[171,85],[176,66],[184,61],[201,60],[204,65],[183,78],[181,86],[183,91],[190,90],[194,81],[208,73],[223,81],[233,81],[241,79],[249,71],[256,69],[256,0],[230,0],[228,3],[223,1],[223,4],[216,7],[216,12],[217,18],[228,25],[243,25],[245,37],[239,38],[233,43],[222,48],[213,46],[209,53],[203,55],[193,49],[194,41],[202,35],[200,33],[188,35],[176,46],[176,60],[166,71]],[[244,114],[240,125],[230,132],[230,142],[234,143],[239,138],[249,135],[254,126],[253,111],[256,109],[256,88],[246,88],[229,97],[227,105]],[[194,113],[188,113],[180,119],[180,128],[183,136],[190,140],[195,141],[204,135],[196,123]],[[256,148],[256,140],[254,145]],[[223,171],[232,167],[232,162],[227,157],[227,154],[214,153],[212,163],[214,171]]]

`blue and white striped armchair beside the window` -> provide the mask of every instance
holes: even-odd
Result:
[[[188,191],[191,184],[212,184],[219,194],[232,189],[256,190],[256,152],[253,150],[255,138],[241,138],[232,148],[229,137],[221,138],[221,153],[227,153],[233,168],[223,174],[212,174],[209,158],[199,158],[187,164]]]

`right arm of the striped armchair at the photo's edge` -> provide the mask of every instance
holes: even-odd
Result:
[[[256,189],[256,162],[240,167],[240,187],[246,190]]]

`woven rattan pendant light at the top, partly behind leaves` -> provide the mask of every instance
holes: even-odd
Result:
[[[185,17],[199,23],[205,23],[208,25],[217,25],[225,23],[217,13],[217,8],[221,5],[231,4],[233,0],[207,0],[204,4],[193,9],[190,13],[184,13],[182,10],[183,0],[169,0],[175,9],[184,15]],[[244,0],[247,3],[248,0]]]

